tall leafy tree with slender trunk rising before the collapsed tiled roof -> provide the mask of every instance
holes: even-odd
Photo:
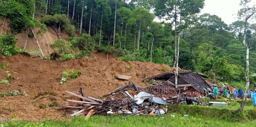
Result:
[[[175,74],[175,87],[177,88],[179,40],[182,30],[194,24],[196,14],[204,7],[204,0],[155,0],[155,15],[174,23],[175,32],[175,60],[173,72]],[[178,42],[177,42],[178,34]]]

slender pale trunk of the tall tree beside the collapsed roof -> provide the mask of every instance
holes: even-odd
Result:
[[[174,72],[174,75],[175,75],[175,88],[177,88],[177,84],[178,84],[178,75],[176,73],[176,62],[177,62],[177,9],[176,9],[176,6],[175,6],[175,60],[174,60],[174,63],[173,63],[173,72]]]

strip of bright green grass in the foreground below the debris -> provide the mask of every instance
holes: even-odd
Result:
[[[256,121],[241,123],[232,120],[223,120],[219,118],[208,119],[204,117],[181,117],[181,115],[171,114],[163,116],[131,116],[124,119],[125,116],[92,116],[88,120],[85,117],[73,118],[72,121],[44,121],[44,122],[7,122],[6,127],[253,127]],[[1,125],[0,125],[1,126]]]

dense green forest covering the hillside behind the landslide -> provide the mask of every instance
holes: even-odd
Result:
[[[245,22],[226,24],[217,15],[199,15],[203,6],[204,0],[1,0],[0,17],[10,19],[11,31],[1,30],[0,54],[11,56],[25,51],[25,47],[16,47],[15,34],[43,36],[48,27],[59,37],[51,45],[59,47],[58,60],[79,59],[93,51],[104,51],[125,62],[154,62],[173,67],[178,41],[179,68],[209,77],[212,70],[216,79],[223,82],[245,81]],[[155,22],[156,18],[164,22]],[[249,77],[254,81],[256,24],[247,26]],[[34,32],[35,27],[39,30]],[[68,40],[62,38],[64,33],[70,36]],[[79,54],[72,54],[71,48]]]

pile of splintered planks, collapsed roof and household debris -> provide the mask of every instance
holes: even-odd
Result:
[[[71,109],[74,115],[86,115],[89,118],[94,113],[98,114],[129,114],[132,115],[158,115],[167,113],[168,107],[165,104],[198,104],[208,105],[199,100],[203,97],[203,88],[208,87],[204,80],[207,76],[195,72],[179,72],[178,87],[175,88],[175,78],[173,73],[162,73],[143,79],[144,82],[151,79],[152,86],[146,88],[136,86],[129,81],[122,87],[110,92],[104,99],[85,97],[83,88],[80,87],[81,95],[66,91],[71,95],[79,97],[80,100],[67,100],[76,102],[75,105],[62,105],[58,110]],[[159,104],[164,104],[165,107]]]

